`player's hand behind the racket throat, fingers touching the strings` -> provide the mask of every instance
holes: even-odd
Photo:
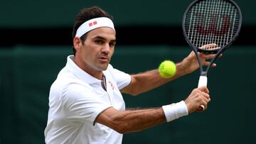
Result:
[[[217,45],[215,43],[211,43],[208,45],[203,45],[202,48],[215,48],[217,47]],[[210,62],[207,62],[206,60],[210,60],[213,59],[213,57],[215,57],[215,54],[210,54],[210,55],[206,55],[203,53],[198,53],[199,57],[201,59],[201,62],[203,65],[210,65]],[[220,56],[222,56],[222,54],[220,54]],[[183,69],[183,71],[185,72],[185,74],[194,72],[195,70],[197,70],[199,68],[198,65],[198,60],[196,59],[196,54],[195,52],[191,52],[188,57],[184,58],[181,62],[181,67]],[[216,67],[216,64],[213,63],[212,67]]]

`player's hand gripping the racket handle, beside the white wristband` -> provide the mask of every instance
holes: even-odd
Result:
[[[193,89],[191,94],[189,94],[188,98],[185,100],[188,113],[193,113],[201,105],[203,105],[206,110],[208,102],[210,102],[210,95],[209,90],[205,86]]]

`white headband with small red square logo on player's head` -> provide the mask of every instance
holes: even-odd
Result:
[[[82,23],[82,25],[78,28],[75,37],[80,38],[88,31],[92,31],[93,29],[100,27],[110,27],[114,30],[114,23],[110,20],[110,18],[106,17],[90,19],[89,21],[85,21],[85,23]]]

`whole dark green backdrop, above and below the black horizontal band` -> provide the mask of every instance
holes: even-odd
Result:
[[[255,26],[256,2],[236,2],[242,10],[243,26]],[[80,9],[94,5],[111,13],[116,26],[181,26],[183,12],[190,3],[188,0],[1,1],[0,28],[69,28]],[[180,62],[189,52],[188,45],[117,43],[111,63],[133,74],[154,69],[166,59]],[[72,53],[71,45],[0,47],[1,144],[44,143],[50,85]],[[232,45],[208,74],[211,102],[207,111],[125,134],[123,143],[256,143],[255,63],[255,45]],[[197,86],[198,78],[196,71],[151,92],[136,97],[124,95],[124,100],[128,108],[171,104],[186,99]]]

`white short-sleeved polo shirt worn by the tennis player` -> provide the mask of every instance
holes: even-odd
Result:
[[[73,55],[50,87],[46,143],[122,143],[122,134],[95,118],[105,109],[125,110],[119,89],[131,82],[131,76],[109,65],[103,73],[107,92],[101,80],[92,77],[73,62]]]

